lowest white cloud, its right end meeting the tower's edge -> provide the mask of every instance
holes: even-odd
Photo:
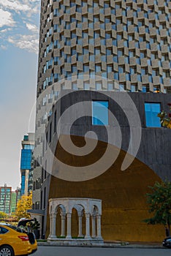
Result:
[[[37,35],[18,35],[18,37],[8,37],[7,40],[20,49],[38,53],[39,39]]]

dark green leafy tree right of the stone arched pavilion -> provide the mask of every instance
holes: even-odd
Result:
[[[147,193],[147,203],[149,205],[149,213],[153,217],[144,219],[148,224],[163,224],[168,228],[170,233],[171,223],[171,182],[156,181],[153,187],[149,187],[152,191]]]

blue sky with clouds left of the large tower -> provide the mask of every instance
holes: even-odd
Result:
[[[0,186],[20,187],[23,135],[34,132],[40,0],[0,0]]]

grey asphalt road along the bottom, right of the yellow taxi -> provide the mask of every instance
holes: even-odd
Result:
[[[34,256],[169,256],[171,249],[39,246]]]

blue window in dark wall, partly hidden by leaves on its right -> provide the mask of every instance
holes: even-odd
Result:
[[[160,111],[160,103],[145,102],[146,127],[161,127],[160,118],[157,116]]]

